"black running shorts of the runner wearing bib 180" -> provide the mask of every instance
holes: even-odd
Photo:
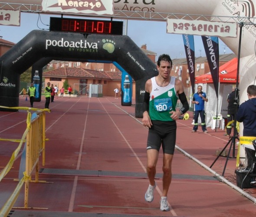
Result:
[[[161,145],[163,152],[173,155],[176,143],[176,121],[152,121],[152,126],[148,130],[148,149],[160,150]]]

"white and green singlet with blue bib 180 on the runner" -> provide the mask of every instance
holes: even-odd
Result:
[[[151,78],[152,91],[149,100],[149,116],[151,120],[173,120],[169,112],[171,110],[175,111],[178,100],[174,86],[175,79],[171,77],[171,81],[166,87],[160,87],[156,83],[155,77]]]

